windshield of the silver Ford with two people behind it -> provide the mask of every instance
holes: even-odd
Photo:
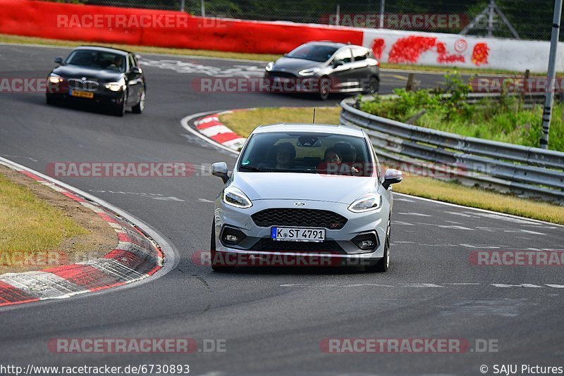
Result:
[[[252,173],[319,173],[372,176],[364,137],[307,132],[253,134],[238,170]]]

